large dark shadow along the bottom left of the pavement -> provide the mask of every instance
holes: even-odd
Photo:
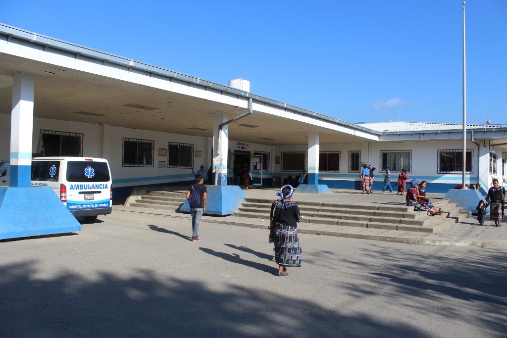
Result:
[[[0,336],[429,337],[411,324],[330,310],[290,292],[135,271],[135,277],[62,271],[38,276],[39,261],[0,267]],[[339,308],[338,308],[339,309]]]

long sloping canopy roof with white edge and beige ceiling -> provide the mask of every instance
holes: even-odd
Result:
[[[229,139],[261,144],[378,140],[380,132],[280,101],[0,24],[0,114],[11,114],[12,74],[35,74],[34,116],[213,136],[213,113],[254,114]]]

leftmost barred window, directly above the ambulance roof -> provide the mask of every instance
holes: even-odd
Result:
[[[44,156],[83,156],[83,134],[41,130],[39,152]]]

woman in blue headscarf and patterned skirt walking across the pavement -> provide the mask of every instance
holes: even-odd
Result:
[[[303,251],[299,244],[298,222],[301,213],[295,202],[290,202],[294,188],[287,184],[281,187],[278,201],[271,205],[270,242],[274,240],[275,261],[278,276],[287,276],[286,267],[301,267]]]

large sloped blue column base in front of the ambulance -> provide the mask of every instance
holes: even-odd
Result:
[[[81,224],[50,187],[0,187],[0,239],[77,231]]]

